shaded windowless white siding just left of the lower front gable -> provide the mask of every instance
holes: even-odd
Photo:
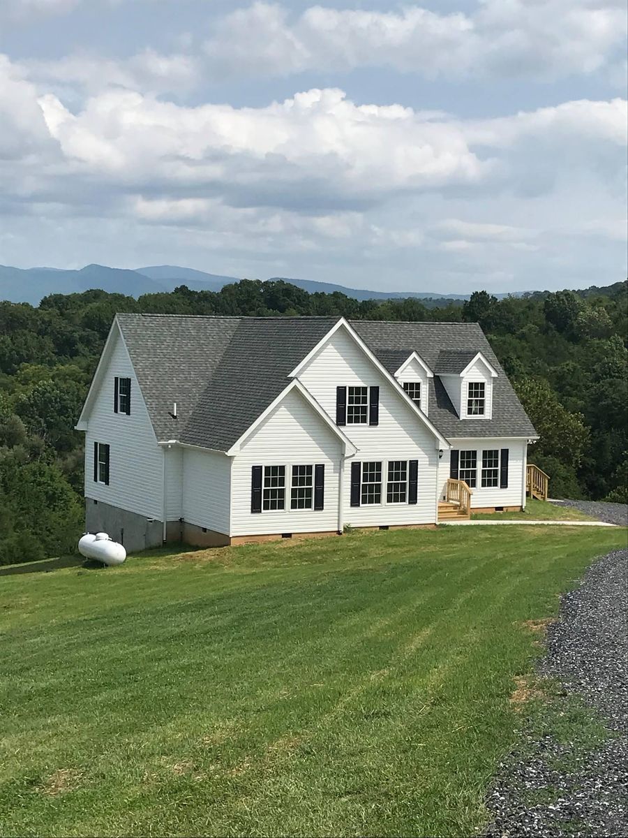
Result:
[[[182,517],[188,524],[229,535],[231,458],[183,448]]]

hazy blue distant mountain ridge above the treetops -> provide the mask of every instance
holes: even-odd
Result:
[[[309,293],[334,292],[345,294],[357,300],[368,299],[417,299],[467,300],[469,294],[441,294],[437,292],[370,291],[365,288],[349,288],[332,282],[315,282],[308,279],[270,277],[269,282],[282,280],[302,288]],[[0,299],[11,303],[38,305],[42,297],[49,294],[72,294],[100,288],[110,293],[140,297],[142,294],[171,292],[179,285],[187,285],[193,291],[219,291],[225,285],[239,282],[239,277],[197,271],[177,265],[152,265],[134,270],[106,265],[86,265],[80,270],[66,271],[53,267],[18,268],[0,265]],[[497,294],[507,297],[508,294]],[[519,296],[518,294],[514,296]]]

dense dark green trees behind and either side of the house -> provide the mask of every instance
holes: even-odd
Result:
[[[0,564],[71,551],[83,526],[83,434],[74,430],[116,312],[477,322],[541,435],[529,460],[556,497],[628,501],[627,283],[427,308],[288,282],[138,299],[93,290],[38,307],[0,303]]]

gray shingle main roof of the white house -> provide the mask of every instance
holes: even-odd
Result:
[[[291,370],[338,320],[174,314],[118,314],[117,318],[157,439],[178,439],[219,451],[228,450],[265,411],[290,382]],[[448,364],[461,363],[464,354],[469,356],[467,364],[481,351],[493,365],[498,373],[493,379],[494,419],[458,419],[444,386],[434,378],[429,417],[445,437],[535,435],[476,323],[358,320],[352,326],[391,373],[413,350],[435,373],[441,354]],[[175,401],[177,419],[171,416]]]

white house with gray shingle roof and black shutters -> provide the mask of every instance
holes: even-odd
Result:
[[[76,427],[130,550],[519,510],[538,438],[476,323],[327,317],[118,314]]]

